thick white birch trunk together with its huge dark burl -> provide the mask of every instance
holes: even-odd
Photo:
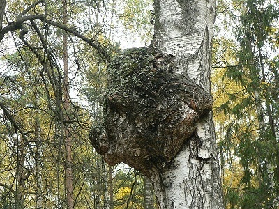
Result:
[[[210,95],[214,0],[156,0],[151,47],[107,68],[103,124],[89,138],[108,164],[151,179],[160,208],[224,208]]]

